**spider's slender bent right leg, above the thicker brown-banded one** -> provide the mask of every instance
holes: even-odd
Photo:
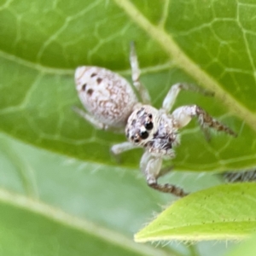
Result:
[[[162,108],[164,108],[166,112],[171,111],[172,106],[176,101],[177,95],[181,90],[192,90],[206,96],[213,96],[213,93],[211,91],[204,90],[201,87],[195,86],[194,84],[173,84],[171,89],[168,91],[162,104]]]

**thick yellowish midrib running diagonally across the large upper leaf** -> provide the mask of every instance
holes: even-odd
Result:
[[[150,21],[129,1],[129,0],[114,0],[115,3],[125,11],[127,15],[140,27],[143,28],[148,35],[153,38],[160,46],[166,51],[166,54],[172,58],[178,67],[181,67],[186,73],[193,77],[198,84],[203,84],[207,89],[214,91],[215,96],[224,102],[224,105],[234,113],[236,116],[244,119],[247,125],[256,131],[255,113],[252,113],[247,108],[237,102],[229,92],[221,88],[220,84],[213,79],[210,75],[205,73],[203,70],[196,65],[187,55],[184,54],[183,50],[180,49],[172,36],[161,26],[154,26]]]

